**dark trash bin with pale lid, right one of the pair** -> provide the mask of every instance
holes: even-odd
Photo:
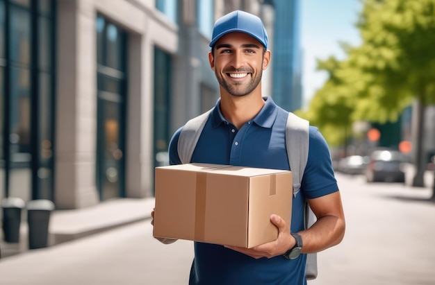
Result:
[[[46,248],[49,222],[54,203],[50,200],[31,200],[27,203],[28,248]]]

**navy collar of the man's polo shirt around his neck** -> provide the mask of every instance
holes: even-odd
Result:
[[[275,119],[278,114],[278,106],[274,103],[271,97],[265,96],[263,97],[265,104],[263,108],[261,108],[260,112],[254,117],[252,121],[256,123],[258,126],[263,128],[272,128]],[[221,123],[228,123],[228,121],[220,112],[220,98],[217,100],[215,108],[212,111],[212,121],[213,127],[217,128]]]

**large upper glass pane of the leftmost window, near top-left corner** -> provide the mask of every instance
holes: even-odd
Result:
[[[22,64],[30,64],[31,30],[30,15],[26,10],[12,6],[10,33],[10,60]]]

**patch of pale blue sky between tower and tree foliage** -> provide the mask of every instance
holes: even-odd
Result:
[[[344,58],[339,42],[359,45],[354,24],[361,10],[359,0],[301,0],[302,86],[306,103],[322,87],[326,74],[315,71],[316,58]]]

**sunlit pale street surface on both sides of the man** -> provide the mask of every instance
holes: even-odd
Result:
[[[318,254],[319,277],[309,285],[435,284],[432,190],[337,178],[345,239]],[[192,242],[163,245],[149,222],[1,259],[0,284],[187,284]]]

